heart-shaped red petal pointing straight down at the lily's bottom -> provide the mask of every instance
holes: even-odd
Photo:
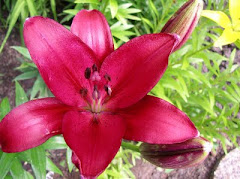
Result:
[[[116,155],[124,133],[122,118],[110,113],[70,111],[63,119],[63,136],[77,156],[73,162],[86,178],[103,172]]]

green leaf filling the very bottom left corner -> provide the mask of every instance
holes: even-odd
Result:
[[[0,178],[5,178],[10,171],[12,162],[15,160],[16,153],[3,153],[0,159]]]

